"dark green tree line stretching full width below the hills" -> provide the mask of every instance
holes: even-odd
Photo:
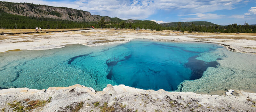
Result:
[[[193,23],[188,26],[181,26],[179,22],[176,27],[164,27],[150,20],[138,20],[134,23],[126,23],[125,21],[105,22],[104,17],[100,21],[94,22],[79,22],[70,20],[60,20],[43,17],[26,17],[6,13],[0,9],[0,28],[11,29],[34,29],[41,27],[43,29],[56,29],[56,28],[120,28],[120,29],[156,29],[156,31],[162,30],[176,30],[180,32],[220,32],[220,33],[256,33],[256,26],[244,23],[244,25],[237,25],[236,23],[228,26],[203,26],[194,25]]]

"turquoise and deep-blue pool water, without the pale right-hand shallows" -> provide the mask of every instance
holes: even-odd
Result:
[[[107,84],[174,91],[184,80],[199,79],[225,55],[199,60],[204,52],[222,48],[198,42],[133,40],[95,47],[72,44],[40,51],[0,53],[0,88],[81,84],[102,90]]]

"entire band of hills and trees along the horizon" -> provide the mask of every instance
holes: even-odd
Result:
[[[102,20],[101,20],[102,19]],[[104,22],[99,22],[99,21]],[[103,24],[101,24],[103,23]],[[100,25],[101,24],[101,25]],[[47,5],[29,3],[11,3],[0,1],[0,28],[131,28],[176,30],[188,32],[223,32],[223,33],[256,33],[256,26],[236,23],[220,26],[207,21],[172,22],[157,24],[150,20],[122,20],[90,12]]]

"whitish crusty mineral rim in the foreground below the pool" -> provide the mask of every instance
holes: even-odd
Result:
[[[256,111],[256,93],[230,90],[226,94],[228,96],[154,91],[111,84],[100,92],[79,84],[47,90],[10,88],[0,90],[0,109],[43,112]]]

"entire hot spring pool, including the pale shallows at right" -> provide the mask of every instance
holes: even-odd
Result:
[[[255,92],[256,59],[217,44],[133,40],[95,47],[67,45],[0,53],[0,88],[107,84],[166,91]]]

